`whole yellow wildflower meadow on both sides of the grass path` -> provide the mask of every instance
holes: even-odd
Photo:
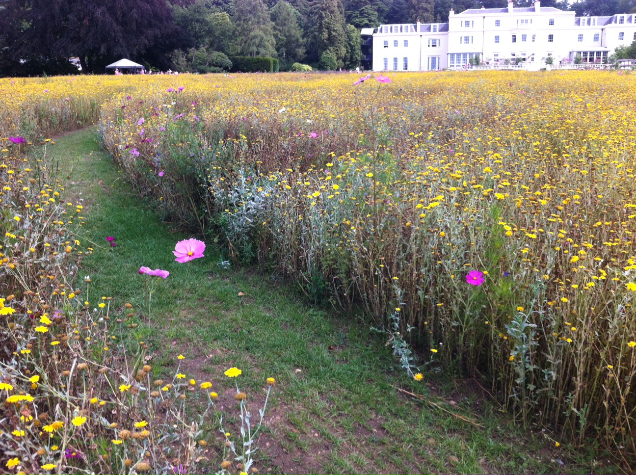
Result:
[[[220,434],[218,473],[254,467],[265,412],[236,385],[240,442],[225,437],[211,383],[155,378],[126,342],[142,322],[78,278],[95,246],[47,154],[92,123],[130,186],[198,236],[175,242],[184,275],[214,245],[361,309],[405,378],[476,376],[523,427],[633,464],[635,93],[624,71],[0,80],[4,464],[185,474]],[[148,319],[175,277],[154,267]]]

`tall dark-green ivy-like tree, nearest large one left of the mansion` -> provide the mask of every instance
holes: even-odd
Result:
[[[345,36],[345,12],[340,0],[317,0],[314,3],[315,24],[312,25],[312,51],[315,59],[329,51],[342,67],[347,52]]]

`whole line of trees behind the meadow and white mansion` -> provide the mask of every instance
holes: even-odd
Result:
[[[635,0],[543,0],[602,16]],[[530,6],[534,0],[516,0]],[[122,57],[148,67],[225,71],[230,57],[279,59],[320,69],[360,65],[360,29],[446,22],[448,11],[503,8],[506,0],[0,0],[0,76],[103,72]]]

